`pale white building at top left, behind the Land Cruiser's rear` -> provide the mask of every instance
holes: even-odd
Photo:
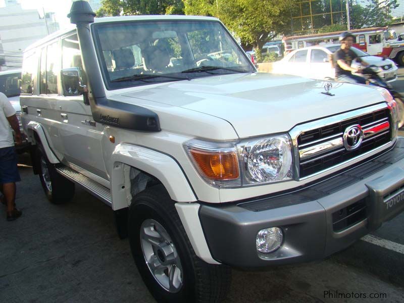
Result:
[[[0,70],[22,66],[22,52],[35,41],[59,29],[53,13],[41,18],[37,10],[23,10],[16,0],[0,8]]]

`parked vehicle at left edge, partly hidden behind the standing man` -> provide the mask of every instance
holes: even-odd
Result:
[[[21,124],[20,84],[21,69],[0,71],[0,91],[8,97],[11,105],[16,111],[16,116],[20,124],[22,144],[16,145],[16,148],[18,151],[23,151],[28,145],[28,140],[23,132]]]

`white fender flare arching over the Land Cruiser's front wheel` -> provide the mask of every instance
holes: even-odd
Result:
[[[111,157],[111,192],[113,210],[128,207],[124,166],[130,166],[157,178],[177,202],[197,201],[192,187],[180,165],[171,157],[143,146],[120,143]]]

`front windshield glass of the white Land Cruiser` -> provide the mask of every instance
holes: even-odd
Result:
[[[255,71],[216,21],[137,21],[94,28],[109,89]]]

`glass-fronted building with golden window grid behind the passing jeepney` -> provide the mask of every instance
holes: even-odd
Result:
[[[325,25],[346,24],[344,0],[296,0],[291,11],[293,35],[311,34]]]

